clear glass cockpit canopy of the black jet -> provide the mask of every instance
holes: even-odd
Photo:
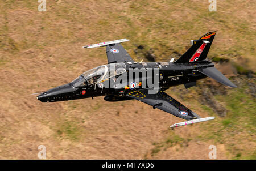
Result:
[[[108,65],[101,65],[94,69],[84,72],[78,78],[73,80],[71,84],[74,87],[82,87],[90,84],[102,82],[105,79],[120,75],[126,72],[125,63],[110,63]]]

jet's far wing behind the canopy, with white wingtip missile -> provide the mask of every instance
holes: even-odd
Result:
[[[101,42],[98,44],[82,46],[82,48],[97,48],[106,46],[106,55],[108,57],[108,63],[115,62],[134,62],[127,51],[120,44],[121,42],[129,41],[128,39],[119,39],[107,42]]]

